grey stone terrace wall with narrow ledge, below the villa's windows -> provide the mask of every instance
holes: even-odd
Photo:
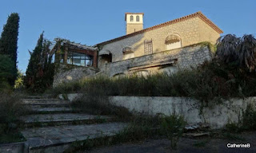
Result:
[[[145,71],[152,74],[168,71],[170,69],[189,69],[191,66],[195,67],[201,65],[204,61],[209,61],[211,56],[209,47],[199,43],[179,49],[172,49],[144,55],[142,57],[134,57],[123,61],[104,64],[101,67],[101,71],[107,77],[114,77],[117,74],[130,74],[138,71]],[[169,66],[162,65],[163,62],[170,61],[174,61],[174,63]],[[139,67],[142,68],[139,69]]]

